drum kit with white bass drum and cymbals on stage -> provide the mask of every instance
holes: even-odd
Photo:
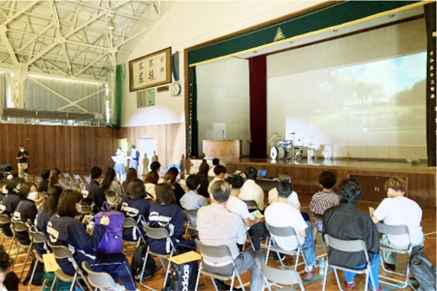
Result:
[[[273,139],[278,137],[277,133],[274,133],[273,137],[269,139],[271,150],[270,158],[272,160],[291,160],[292,162],[302,162],[303,150],[302,146],[297,145],[294,141],[295,132],[291,133],[292,139],[289,140],[278,140],[276,144],[273,143]],[[298,142],[301,139],[298,139]]]

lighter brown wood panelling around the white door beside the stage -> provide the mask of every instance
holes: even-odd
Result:
[[[129,145],[136,144],[137,138],[156,138],[156,155],[163,169],[185,159],[185,123],[122,127],[118,138],[127,138]]]

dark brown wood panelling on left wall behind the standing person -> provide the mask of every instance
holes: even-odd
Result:
[[[88,174],[93,166],[113,167],[118,131],[88,126],[51,126],[0,123],[0,164],[16,170],[16,153],[22,144],[29,152],[29,173],[43,168]]]

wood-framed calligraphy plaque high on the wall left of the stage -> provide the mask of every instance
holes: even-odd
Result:
[[[129,61],[129,92],[170,83],[171,48]]]

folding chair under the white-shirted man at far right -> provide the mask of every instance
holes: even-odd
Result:
[[[388,225],[388,224],[385,224],[385,223],[377,223],[376,224],[376,229],[378,230],[379,233],[393,234],[393,235],[402,235],[402,234],[405,234],[405,235],[408,236],[408,248],[404,249],[404,250],[391,248],[388,245],[384,245],[383,243],[379,244],[379,249],[381,250],[381,265],[382,265],[382,268],[384,269],[384,271],[386,271],[387,273],[390,273],[390,274],[395,274],[395,275],[399,275],[399,276],[405,276],[405,281],[401,281],[401,280],[397,280],[397,279],[394,279],[394,278],[390,278],[388,276],[379,275],[380,278],[404,284],[404,285],[402,285],[402,287],[399,287],[397,284],[390,283],[390,282],[387,282],[387,281],[380,280],[380,282],[384,283],[384,284],[391,285],[391,286],[396,286],[397,288],[400,288],[400,289],[404,289],[408,285],[408,277],[409,277],[409,274],[410,274],[410,264],[408,263],[408,261],[409,261],[409,258],[411,256],[411,251],[413,249],[413,244],[411,243],[410,232],[408,230],[408,227],[406,225]],[[406,254],[406,255],[408,255],[408,260],[407,260],[407,264],[406,264],[406,272],[405,272],[405,274],[387,270],[386,267],[384,266],[384,259],[383,259],[382,251],[390,251],[390,252],[395,252],[395,253],[398,253],[398,254]]]

